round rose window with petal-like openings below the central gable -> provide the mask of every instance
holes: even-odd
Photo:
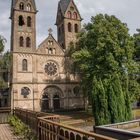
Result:
[[[50,76],[53,76],[57,73],[57,66],[53,62],[48,62],[45,65],[45,73],[47,73]]]

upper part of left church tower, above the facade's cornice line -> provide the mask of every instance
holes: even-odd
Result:
[[[36,5],[34,0],[12,0],[11,51],[34,52],[36,48]]]

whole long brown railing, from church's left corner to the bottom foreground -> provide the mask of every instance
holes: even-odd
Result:
[[[15,115],[37,132],[38,140],[115,140],[63,125],[59,115],[16,108]]]

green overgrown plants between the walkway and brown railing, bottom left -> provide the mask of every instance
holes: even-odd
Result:
[[[10,116],[9,124],[13,127],[13,133],[20,136],[23,140],[37,140],[31,129],[18,119],[16,116]]]

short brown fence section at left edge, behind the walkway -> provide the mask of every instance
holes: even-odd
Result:
[[[0,108],[0,124],[7,123],[11,114],[10,108]]]

